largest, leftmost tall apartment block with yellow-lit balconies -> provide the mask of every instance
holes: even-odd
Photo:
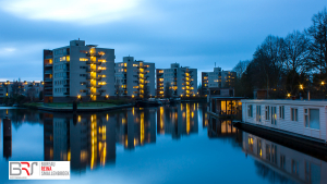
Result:
[[[104,100],[114,95],[114,49],[72,40],[44,50],[45,102]]]

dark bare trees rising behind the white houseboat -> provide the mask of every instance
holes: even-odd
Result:
[[[270,98],[288,94],[325,98],[327,77],[327,10],[312,17],[312,25],[303,32],[293,30],[286,37],[269,35],[261,44],[251,61],[240,61],[238,96],[253,97],[254,89],[267,89]]]

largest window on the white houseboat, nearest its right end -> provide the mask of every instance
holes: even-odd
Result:
[[[304,109],[305,127],[320,130],[319,109]]]

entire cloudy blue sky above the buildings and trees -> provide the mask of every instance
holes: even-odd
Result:
[[[231,70],[269,34],[311,25],[326,0],[0,0],[0,79],[41,81],[43,49],[83,39],[156,68]]]

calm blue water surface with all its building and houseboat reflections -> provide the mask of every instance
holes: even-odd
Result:
[[[3,142],[2,120],[12,120]],[[108,113],[0,109],[0,183],[8,161],[71,161],[60,183],[325,183],[326,157],[305,154],[216,120],[201,103]],[[310,151],[308,151],[310,152]],[[47,181],[58,183],[58,181]]]

